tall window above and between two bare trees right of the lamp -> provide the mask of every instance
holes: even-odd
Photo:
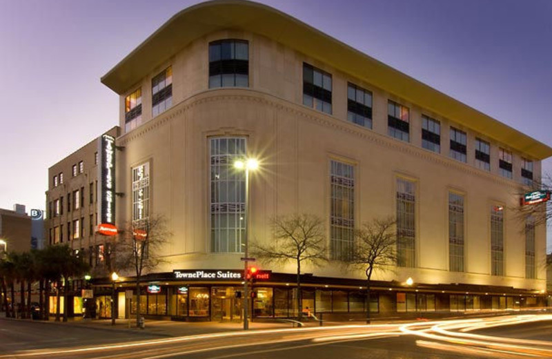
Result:
[[[330,253],[334,260],[351,260],[355,239],[355,167],[330,162]]]

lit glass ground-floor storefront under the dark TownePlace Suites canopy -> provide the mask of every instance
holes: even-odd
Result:
[[[222,276],[217,277],[217,273]],[[117,282],[115,293],[112,283],[97,281],[92,307],[95,307],[97,318],[110,318],[113,303],[116,318],[128,318],[137,313],[139,296],[139,311],[146,318],[242,320],[244,287],[241,275],[237,270],[159,273],[144,278],[139,293],[132,280]],[[313,275],[302,277],[303,313],[337,320],[362,317],[366,313],[366,282]],[[293,282],[295,275],[268,273],[260,278],[248,282],[248,312],[253,320],[297,317],[299,291]],[[82,304],[81,307],[90,306]],[[373,282],[369,307],[373,318],[408,316],[409,313],[505,311],[546,307],[546,295],[523,289],[468,284],[408,286],[398,282]]]

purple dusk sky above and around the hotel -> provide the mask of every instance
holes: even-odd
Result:
[[[99,78],[198,2],[0,0],[0,208],[44,208],[48,167],[117,125]],[[552,146],[552,1],[259,2]]]

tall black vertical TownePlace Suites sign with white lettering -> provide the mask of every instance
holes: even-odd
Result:
[[[98,203],[99,223],[115,224],[115,137],[102,135],[99,138],[99,180],[101,200]]]

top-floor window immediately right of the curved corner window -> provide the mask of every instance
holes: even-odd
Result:
[[[303,104],[324,113],[332,113],[332,75],[303,64]]]

